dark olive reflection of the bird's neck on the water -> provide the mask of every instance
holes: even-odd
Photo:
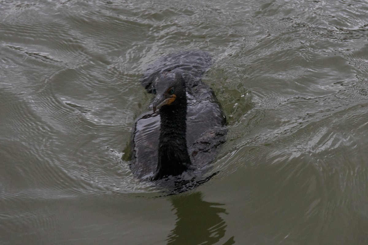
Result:
[[[168,235],[168,245],[216,244],[224,237],[226,223],[220,214],[226,214],[226,210],[218,207],[224,204],[203,201],[200,192],[173,196],[171,202],[176,209],[177,221]],[[224,245],[234,243],[234,237],[231,237]]]

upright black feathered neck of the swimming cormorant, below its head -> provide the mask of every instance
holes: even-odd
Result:
[[[187,99],[160,108],[161,128],[155,179],[180,175],[191,164],[186,140]]]

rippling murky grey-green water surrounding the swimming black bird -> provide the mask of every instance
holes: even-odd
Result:
[[[368,244],[367,1],[1,1],[0,244]],[[124,156],[154,60],[199,49],[219,174]]]

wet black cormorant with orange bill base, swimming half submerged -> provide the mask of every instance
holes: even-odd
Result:
[[[131,168],[160,180],[201,172],[225,142],[226,119],[212,89],[201,81],[211,57],[202,51],[168,55],[141,80],[155,98],[135,121]],[[192,178],[192,177],[191,177]]]

